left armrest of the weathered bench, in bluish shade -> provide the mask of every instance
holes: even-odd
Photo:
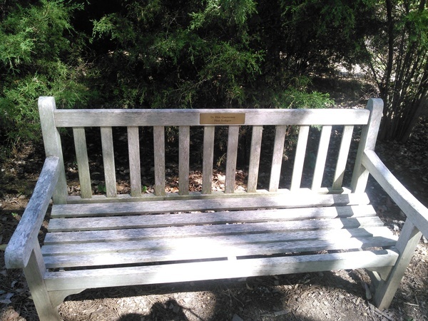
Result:
[[[46,158],[29,204],[7,245],[4,254],[7,268],[24,268],[29,262],[31,251],[35,243],[39,242],[37,235],[54,193],[58,175],[59,158]]]

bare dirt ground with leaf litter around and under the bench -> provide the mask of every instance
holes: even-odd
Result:
[[[428,205],[428,121],[419,123],[409,143],[378,143],[377,151]],[[38,320],[23,272],[6,270],[3,255],[28,203],[43,155],[41,146],[27,147],[0,163],[1,321]],[[372,180],[367,190],[384,223],[399,233],[405,218],[397,206]],[[86,290],[69,296],[59,311],[66,321],[428,320],[427,263],[427,240],[422,239],[392,305],[382,311],[372,305],[370,279],[363,270]]]

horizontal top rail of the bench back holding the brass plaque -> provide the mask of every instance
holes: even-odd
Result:
[[[56,127],[367,125],[366,109],[81,109],[56,110]]]

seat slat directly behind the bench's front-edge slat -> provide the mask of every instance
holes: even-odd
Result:
[[[253,236],[253,235],[252,235]],[[88,265],[117,265],[129,263],[161,263],[180,260],[215,260],[230,257],[275,255],[281,253],[305,253],[324,250],[352,250],[360,248],[379,248],[393,246],[396,240],[384,237],[330,238],[329,240],[291,240],[288,242],[230,243],[220,238],[181,239],[182,242],[126,242],[126,243],[88,243],[79,246],[52,245],[43,250],[45,263],[55,265],[55,254],[61,257],[63,267]],[[120,255],[119,255],[120,254]],[[83,260],[76,260],[84,257]],[[68,259],[66,258],[68,257]],[[109,258],[110,257],[110,258]],[[108,258],[108,260],[103,259]],[[116,258],[116,261],[113,260]],[[52,260],[52,263],[49,262]],[[68,260],[68,262],[66,262]],[[125,261],[126,260],[126,261]],[[58,264],[56,264],[58,265]]]

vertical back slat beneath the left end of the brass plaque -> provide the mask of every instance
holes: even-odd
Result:
[[[202,167],[202,193],[211,193],[211,181],[213,180],[214,160],[214,126],[204,126],[203,131],[203,167]]]

